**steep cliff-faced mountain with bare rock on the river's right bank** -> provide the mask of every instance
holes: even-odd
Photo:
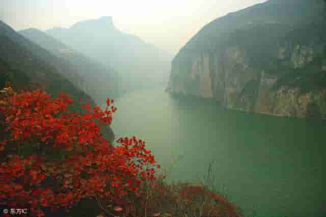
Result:
[[[167,90],[251,113],[326,118],[324,7],[270,0],[213,20],[173,59]]]

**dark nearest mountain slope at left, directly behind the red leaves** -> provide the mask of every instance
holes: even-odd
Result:
[[[38,83],[53,97],[60,92],[69,94],[74,100],[70,109],[79,113],[84,112],[80,109],[80,103],[90,102],[91,106],[96,105],[82,90],[85,80],[70,63],[24,38],[1,20],[0,69],[1,87],[6,82],[11,82],[15,88],[26,87],[30,82]],[[112,129],[101,128],[107,139],[112,141]]]

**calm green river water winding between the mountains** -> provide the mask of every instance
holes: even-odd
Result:
[[[179,158],[170,180],[202,178],[214,160],[216,186],[246,216],[326,216],[325,122],[245,114],[164,90],[135,91],[115,105],[117,138],[145,139],[163,168]]]

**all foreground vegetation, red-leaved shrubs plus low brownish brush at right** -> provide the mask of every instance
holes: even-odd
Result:
[[[167,184],[145,141],[110,146],[95,122],[110,125],[116,108],[79,115],[41,89],[1,91],[0,204],[33,216],[241,216],[207,185]],[[209,170],[210,171],[210,170]]]

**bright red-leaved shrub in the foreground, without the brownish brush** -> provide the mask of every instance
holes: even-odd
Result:
[[[99,197],[121,199],[138,194],[145,180],[154,179],[154,156],[145,141],[133,137],[119,139],[110,146],[102,138],[95,121],[110,125],[117,108],[107,99],[106,109],[83,105],[86,114],[68,111],[73,102],[66,94],[57,99],[41,89],[10,91],[2,99],[5,131],[0,153],[16,147],[39,147],[66,153],[61,159],[48,155],[7,154],[0,165],[0,203],[11,207],[28,204],[44,215],[42,207],[71,207],[80,199]]]

